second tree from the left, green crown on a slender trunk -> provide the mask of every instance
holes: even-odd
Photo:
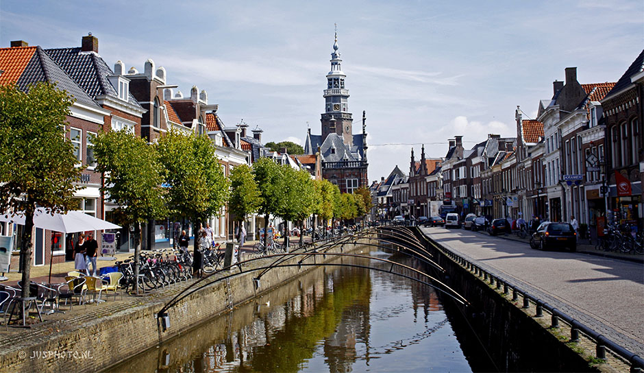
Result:
[[[167,213],[158,153],[140,137],[112,131],[94,139],[94,155],[96,170],[106,175],[101,191],[119,206],[116,214],[123,224],[134,224],[134,278],[138,293],[141,223]]]

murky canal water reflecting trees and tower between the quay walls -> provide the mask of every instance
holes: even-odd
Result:
[[[349,261],[343,258],[343,263]],[[448,307],[452,313],[458,313],[456,308]],[[419,282],[369,269],[326,266],[137,354],[110,372],[494,370],[481,359],[480,348],[461,346],[454,330],[468,332],[454,325],[458,320],[445,312],[432,288]]]

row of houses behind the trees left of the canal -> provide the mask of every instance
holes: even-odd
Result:
[[[29,84],[49,82],[71,95],[75,102],[65,124],[66,136],[74,145],[78,165],[86,166],[77,184],[82,186],[75,194],[78,210],[114,221],[112,211],[116,206],[106,202],[101,193],[103,176],[95,171],[92,136],[99,132],[125,130],[155,143],[170,130],[185,133],[207,134],[216,145],[216,156],[225,176],[238,165],[251,165],[262,156],[292,167],[306,168],[295,157],[271,152],[262,145],[262,130],[249,131],[241,121],[227,126],[218,114],[219,106],[210,104],[208,93],[190,88],[189,94],[171,84],[166,69],[147,60],[143,69],[125,68],[120,60],[112,67],[99,55],[99,40],[88,34],[82,37],[80,47],[44,49],[30,47],[25,41],[12,41],[11,47],[0,48],[0,84],[17,84],[25,91]],[[233,221],[225,208],[219,215],[210,217],[208,224],[216,238],[230,240],[234,234]],[[249,238],[256,229],[256,217],[248,224]],[[1,234],[19,234],[22,226],[2,224]],[[143,248],[154,248],[156,243],[169,241],[177,230],[193,226],[171,219],[149,221],[143,233]],[[132,227],[125,226],[117,234],[117,250],[134,248]],[[97,237],[100,240],[100,237]],[[34,234],[34,265],[73,260],[73,243],[77,234],[36,229]],[[16,256],[17,261],[17,256]],[[15,263],[15,267],[17,263]],[[14,264],[12,264],[12,267]]]

